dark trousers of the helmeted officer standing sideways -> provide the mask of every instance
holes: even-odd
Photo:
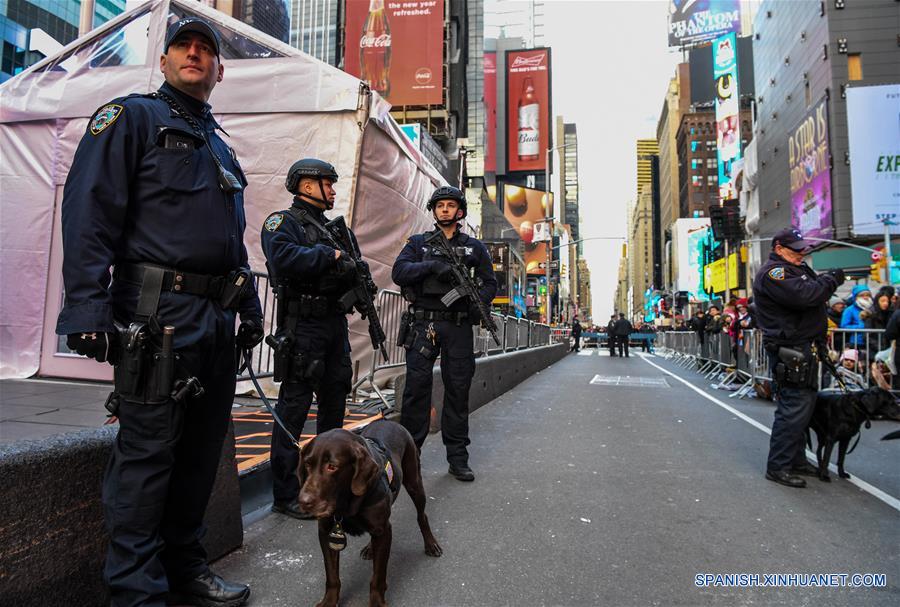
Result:
[[[305,378],[281,383],[275,405],[278,417],[299,440],[315,393],[318,404],[316,433],[342,427],[347,395],[353,380],[347,317],[334,314],[300,320],[294,332],[293,353],[302,357],[308,373]],[[275,501],[293,501],[300,495],[299,465],[299,449],[284,430],[273,426],[271,466]]]

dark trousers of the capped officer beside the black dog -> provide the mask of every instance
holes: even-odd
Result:
[[[774,378],[778,355],[772,352],[768,355],[769,372]],[[769,439],[768,471],[790,471],[806,464],[806,429],[816,407],[816,394],[815,388],[808,384],[775,382],[776,408]]]

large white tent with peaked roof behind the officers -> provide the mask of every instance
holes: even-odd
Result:
[[[338,170],[338,202],[376,283],[409,234],[431,225],[425,201],[439,173],[412,147],[389,105],[358,79],[223,13],[189,0],[149,0],[0,86],[0,377],[106,379],[106,365],[60,350],[62,301],[59,207],[87,120],[110,99],[162,83],[167,24],[186,14],[222,36],[224,80],[210,103],[250,182],[245,241],[265,271],[259,231],[290,204],[288,167],[299,158]],[[202,226],[198,226],[202,229]],[[354,358],[371,353],[364,321],[351,326]]]

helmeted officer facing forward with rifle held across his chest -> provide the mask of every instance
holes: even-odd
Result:
[[[481,241],[463,234],[459,222],[466,216],[466,199],[457,188],[444,186],[428,201],[435,230],[442,230],[465,265],[474,270],[481,301],[490,309],[497,292],[491,256]],[[475,480],[469,467],[469,387],[475,374],[472,325],[479,322],[476,304],[460,298],[449,307],[441,297],[454,288],[447,259],[426,244],[433,232],[412,236],[397,260],[392,277],[410,302],[413,322],[406,348],[406,385],[400,423],[421,450],[431,418],[434,361],[441,355],[444,406],[441,435],[447,448],[450,474],[461,481]]]

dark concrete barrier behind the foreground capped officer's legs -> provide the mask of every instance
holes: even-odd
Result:
[[[0,603],[109,604],[100,488],[115,435],[106,426],[0,447]],[[234,455],[229,428],[205,519],[211,560],[243,542]]]

